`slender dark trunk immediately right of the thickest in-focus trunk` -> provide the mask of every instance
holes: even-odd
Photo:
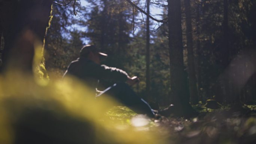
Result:
[[[189,93],[192,104],[198,103],[198,93],[196,88],[195,61],[193,54],[193,39],[192,39],[192,23],[191,23],[191,5],[190,0],[185,0],[186,9],[186,37],[188,48],[188,72],[189,72]]]

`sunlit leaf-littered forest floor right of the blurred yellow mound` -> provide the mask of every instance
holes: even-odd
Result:
[[[223,106],[218,110],[200,104],[193,107],[199,111],[198,117],[161,117],[147,119],[141,125],[133,122],[141,116],[127,107],[114,107],[106,116],[114,123],[134,125],[147,131],[154,129],[152,132],[155,132],[157,128],[169,144],[256,144],[256,105]]]

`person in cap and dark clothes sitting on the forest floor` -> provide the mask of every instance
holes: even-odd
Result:
[[[158,111],[153,110],[129,86],[138,83],[138,77],[130,77],[124,70],[119,68],[100,65],[100,56],[106,57],[107,54],[99,52],[94,45],[83,46],[80,50],[79,58],[68,65],[63,77],[67,75],[75,76],[83,80],[92,89],[96,89],[98,92],[96,97],[110,95],[136,113],[155,117],[155,113]],[[112,81],[115,84],[104,91],[98,91],[99,81]]]

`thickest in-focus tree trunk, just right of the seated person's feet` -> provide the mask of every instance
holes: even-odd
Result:
[[[177,113],[187,115],[192,110],[183,63],[181,3],[168,0],[168,40],[170,53],[171,102],[176,105]]]

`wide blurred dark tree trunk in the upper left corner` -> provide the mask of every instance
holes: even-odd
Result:
[[[43,43],[52,0],[3,0],[0,5],[4,50],[1,71],[31,71],[35,43]]]

